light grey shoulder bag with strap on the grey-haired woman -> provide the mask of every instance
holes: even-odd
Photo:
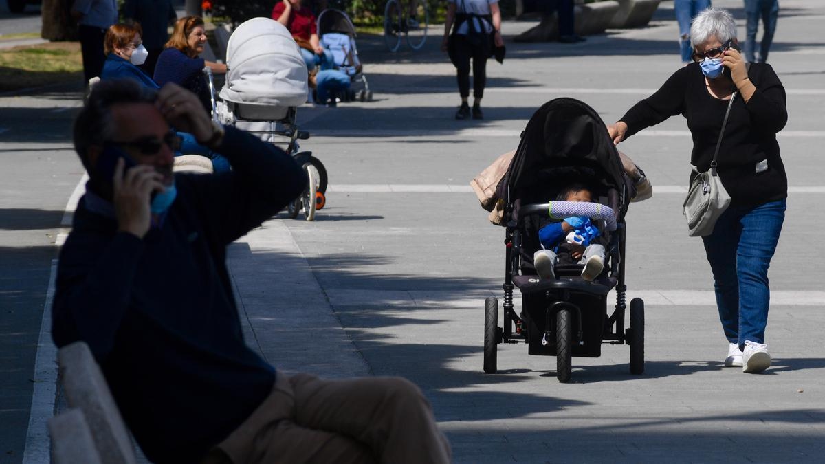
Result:
[[[722,144],[725,125],[728,125],[730,108],[733,107],[735,99],[736,92],[733,92],[728,103],[728,110],[724,113],[722,130],[719,132],[719,140],[716,141],[716,150],[714,159],[710,162],[710,168],[693,178],[691,188],[685,197],[684,214],[687,220],[688,235],[691,237],[705,237],[712,234],[716,220],[730,206],[730,195],[722,185],[719,173],[716,172],[716,159],[719,156],[719,146]]]

